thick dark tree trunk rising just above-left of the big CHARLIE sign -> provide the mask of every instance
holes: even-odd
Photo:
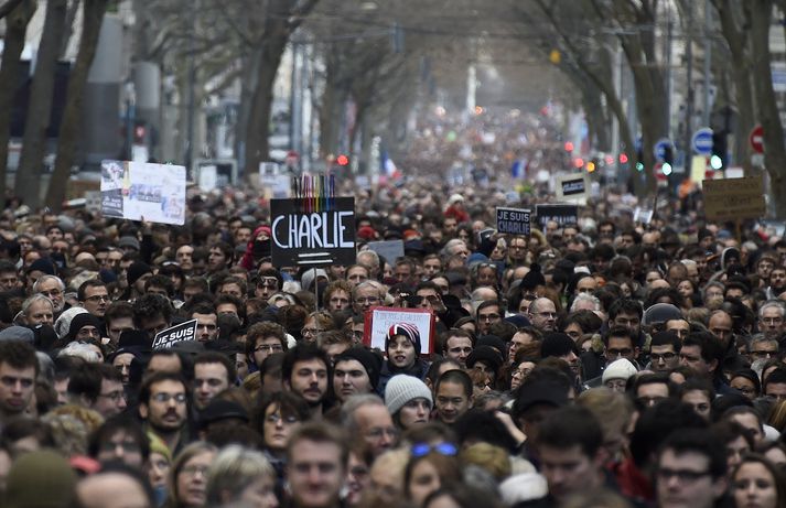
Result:
[[[273,101],[273,82],[284,48],[287,47],[288,35],[281,34],[271,36],[265,44],[259,74],[257,75],[257,88],[251,97],[251,114],[248,118],[246,129],[246,179],[252,179],[259,174],[259,163],[270,156],[270,112]]]

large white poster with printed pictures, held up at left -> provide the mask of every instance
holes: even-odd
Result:
[[[148,162],[101,162],[101,212],[107,217],[185,223],[185,167]]]

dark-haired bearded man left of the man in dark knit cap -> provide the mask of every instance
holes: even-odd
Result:
[[[324,414],[330,379],[327,355],[315,345],[299,344],[287,352],[281,366],[283,389],[301,396],[311,408],[312,418]]]

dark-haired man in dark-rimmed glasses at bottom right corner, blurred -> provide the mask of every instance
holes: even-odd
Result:
[[[658,453],[658,508],[712,508],[726,490],[726,448],[703,429],[683,429]]]

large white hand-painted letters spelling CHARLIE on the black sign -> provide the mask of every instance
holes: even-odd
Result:
[[[331,227],[331,215],[333,215],[333,227]],[[354,212],[281,215],[276,217],[272,224],[273,241],[282,249],[351,249],[354,242],[344,238],[347,228],[344,221],[347,217],[352,219],[353,215]],[[282,220],[283,229],[279,231]],[[279,233],[282,236],[279,236]]]

